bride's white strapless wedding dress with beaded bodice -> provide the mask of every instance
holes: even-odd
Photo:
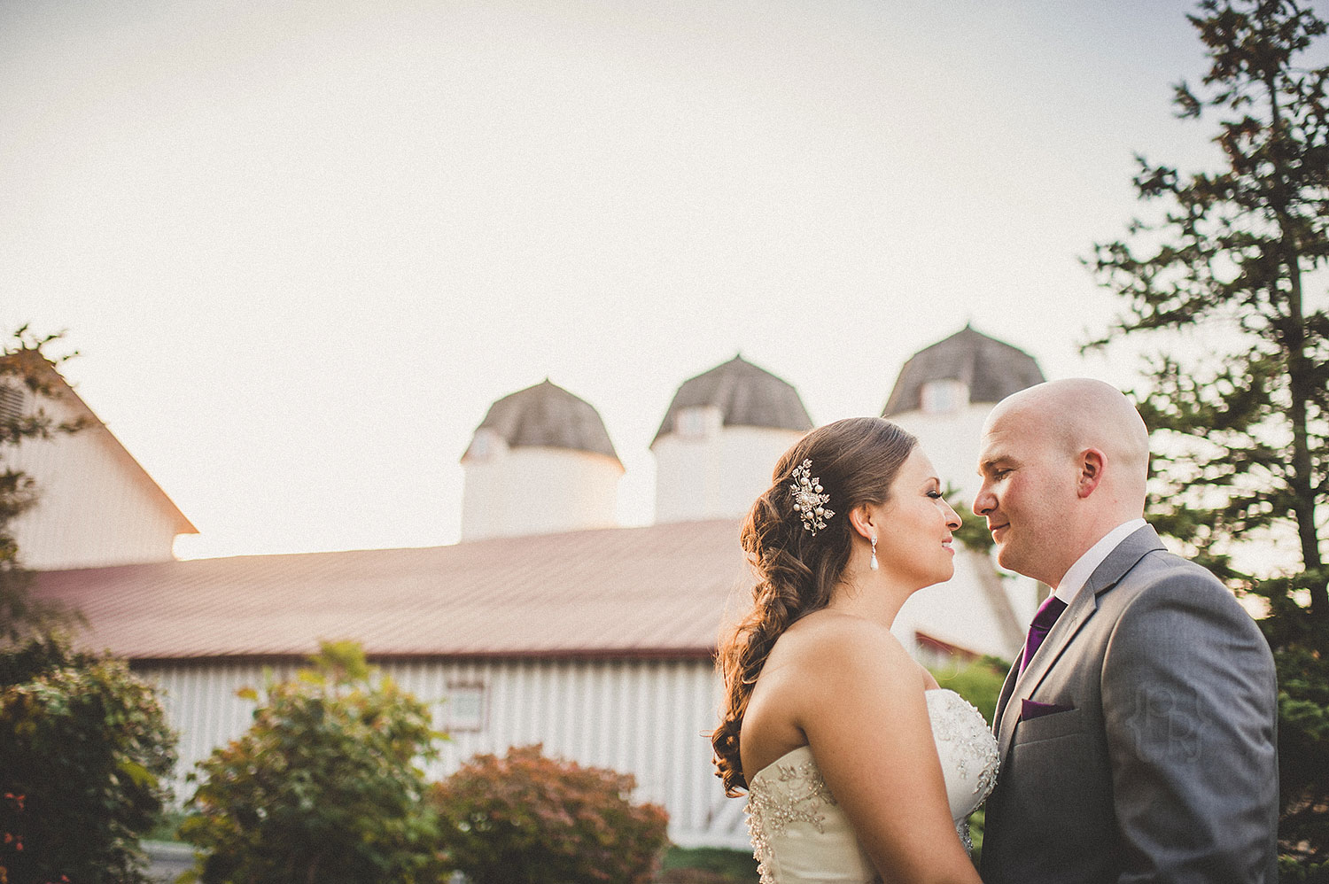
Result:
[[[956,691],[930,690],[926,701],[950,816],[969,849],[969,815],[997,782],[997,740],[982,714]],[[747,814],[762,884],[880,880],[807,746],[752,776]]]

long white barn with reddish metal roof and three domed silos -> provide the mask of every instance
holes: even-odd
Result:
[[[966,327],[905,366],[884,411],[964,493],[975,421],[1041,379],[1030,356]],[[712,655],[747,600],[742,513],[811,427],[797,391],[742,356],[686,380],[651,444],[657,524],[618,528],[609,433],[594,407],[545,380],[497,400],[476,428],[459,544],[93,561],[43,570],[37,588],[82,610],[82,642],[165,689],[181,778],[249,726],[238,689],[264,669],[294,671],[320,639],[354,639],[433,703],[451,739],[431,774],[540,742],[633,774],[638,798],[668,810],[675,843],[746,847],[742,802],[711,767]],[[930,663],[1010,657],[1035,602],[1037,586],[960,550],[957,577],[916,594],[896,633]]]

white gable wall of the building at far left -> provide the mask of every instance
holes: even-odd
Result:
[[[57,420],[77,413],[60,401]],[[36,570],[170,561],[178,516],[101,425],[72,436],[29,439],[7,465],[36,480],[36,506],[13,522],[23,564]]]

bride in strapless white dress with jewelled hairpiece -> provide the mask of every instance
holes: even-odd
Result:
[[[763,884],[979,880],[968,816],[995,742],[890,634],[950,580],[957,528],[917,440],[877,417],[809,432],[752,505],[754,606],[720,643],[711,742],[726,792],[748,792]]]

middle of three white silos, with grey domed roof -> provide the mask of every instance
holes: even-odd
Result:
[[[655,521],[743,516],[809,429],[799,391],[742,356],[683,382],[651,441]]]

